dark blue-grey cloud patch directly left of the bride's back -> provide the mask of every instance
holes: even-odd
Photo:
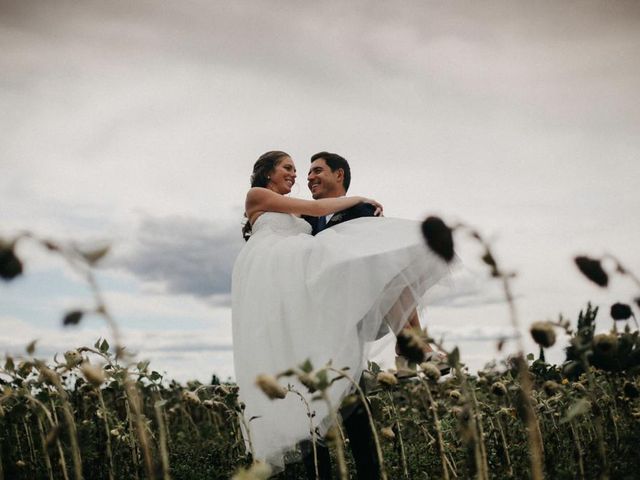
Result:
[[[225,301],[243,243],[240,222],[220,226],[186,217],[149,217],[140,223],[133,250],[111,266],[160,282],[169,293]]]

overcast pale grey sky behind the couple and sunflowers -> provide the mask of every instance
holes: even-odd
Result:
[[[309,157],[329,150],[387,216],[490,236],[523,324],[593,300],[606,329],[635,291],[599,290],[571,258],[610,251],[640,271],[639,27],[635,1],[0,0],[0,234],[110,242],[99,280],[132,348],[170,377],[225,377],[252,164],[288,151],[309,198]],[[428,324],[477,367],[507,310],[458,244],[465,275]],[[62,330],[87,288],[20,253],[0,350],[106,333],[91,318]]]

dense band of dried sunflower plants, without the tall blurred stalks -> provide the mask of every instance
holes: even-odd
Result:
[[[594,336],[596,313],[581,313],[561,367],[542,358],[528,362],[547,478],[637,478],[640,468],[638,331]],[[439,378],[423,364],[402,381],[371,367],[378,385],[369,400],[388,478],[529,477],[516,365],[476,376],[458,363],[454,375]],[[322,368],[303,368],[313,388],[325,388]],[[251,464],[234,385],[180,385],[164,381],[146,362],[130,368],[145,447],[126,370],[104,340],[71,350],[54,365],[29,355],[7,358],[0,397],[3,478],[226,479]],[[284,378],[279,384],[286,390]],[[339,441],[336,435],[334,449]],[[301,475],[301,466],[292,465],[280,477]]]

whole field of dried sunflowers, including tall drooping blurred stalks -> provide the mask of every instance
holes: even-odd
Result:
[[[445,259],[453,256],[456,230],[485,248],[483,261],[503,282],[519,331],[510,274],[497,265],[478,232],[450,228],[437,218],[423,224],[429,247]],[[0,368],[0,479],[268,478],[268,468],[253,463],[245,449],[241,425],[250,430],[250,419],[243,416],[233,384],[214,377],[209,385],[181,385],[123,348],[92,273],[106,250],[80,251],[29,238],[86,276],[94,292],[93,312],[111,327],[113,345],[99,339],[45,362],[35,356],[32,343],[24,355],[5,358]],[[18,240],[0,242],[0,275],[6,281],[22,272],[14,248]],[[640,285],[615,259],[575,261],[603,288],[611,274]],[[611,263],[613,269],[605,268]],[[611,306],[613,328],[606,334],[594,334],[596,319],[610,320],[598,317],[590,305],[573,321],[537,322],[530,332],[539,352],[525,356],[516,335],[519,353],[477,375],[465,369],[454,349],[447,352],[452,374],[441,378],[432,364],[420,363],[416,352],[424,336],[409,332],[403,353],[415,362],[412,375],[399,379],[375,364],[368,372],[370,420],[383,478],[639,478],[640,339],[633,308]],[[69,312],[63,323],[78,323],[84,313]],[[554,344],[558,330],[571,340],[566,361],[551,365],[544,349]],[[277,378],[262,378],[265,394],[294,395],[287,378],[297,376],[321,397],[331,388],[332,376],[348,376],[331,366],[292,367]],[[349,478],[354,475],[349,450],[339,429],[331,433],[336,478]],[[293,463],[277,478],[303,478],[302,472]]]

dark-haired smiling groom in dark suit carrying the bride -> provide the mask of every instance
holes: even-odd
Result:
[[[347,193],[350,183],[351,169],[349,168],[349,163],[340,155],[320,152],[311,157],[307,185],[314,200],[342,197]],[[312,234],[315,235],[325,228],[331,228],[342,222],[359,217],[372,217],[374,216],[374,211],[375,207],[373,205],[361,203],[326,217],[303,216],[303,218],[311,224]],[[361,480],[380,478],[380,466],[373,441],[373,433],[361,400],[359,399],[355,404],[342,408],[340,414],[349,437],[349,445],[355,460],[358,478]],[[307,478],[315,479],[311,442],[302,442],[301,450]],[[319,477],[321,479],[330,479],[332,477],[329,449],[323,444],[317,445],[317,450]]]

